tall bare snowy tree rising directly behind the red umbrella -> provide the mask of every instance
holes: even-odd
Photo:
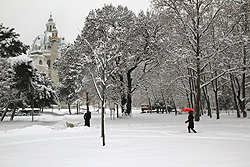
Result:
[[[214,0],[153,0],[154,7],[171,16],[171,20],[177,25],[176,32],[179,34],[180,44],[176,49],[181,50],[184,59],[183,66],[192,74],[191,83],[195,84],[195,120],[200,119],[200,102],[202,76],[210,60],[213,59],[215,52],[210,42],[211,28],[215,19],[221,11],[221,4]],[[181,42],[181,40],[183,42]],[[184,52],[185,51],[185,52]],[[219,50],[217,52],[220,52]],[[188,74],[186,73],[186,74]]]

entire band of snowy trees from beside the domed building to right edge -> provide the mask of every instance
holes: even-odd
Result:
[[[77,77],[102,106],[116,101],[127,114],[133,95],[165,107],[185,97],[197,111],[196,121],[204,108],[212,117],[212,103],[217,119],[221,107],[246,117],[249,1],[153,0],[152,5],[138,15],[112,5],[90,11],[55,63],[59,74]]]

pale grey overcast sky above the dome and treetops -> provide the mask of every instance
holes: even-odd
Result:
[[[70,43],[80,33],[89,11],[104,4],[127,6],[138,14],[146,11],[150,0],[0,0],[0,23],[14,27],[20,40],[31,45],[36,36],[45,31],[52,13],[59,35]]]

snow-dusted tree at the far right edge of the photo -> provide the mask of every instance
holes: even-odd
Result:
[[[243,117],[247,117],[246,105],[249,102],[249,52],[250,52],[250,2],[249,0],[229,1],[226,11],[231,21],[231,29],[228,35],[231,51],[238,58],[237,66],[241,69],[238,74],[232,75],[232,81],[236,83],[237,99]],[[237,104],[236,104],[237,105]]]

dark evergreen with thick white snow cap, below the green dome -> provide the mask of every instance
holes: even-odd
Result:
[[[23,55],[10,58],[14,69],[14,89],[18,90],[18,99],[29,107],[50,107],[58,104],[56,92],[51,80],[43,73],[38,73],[34,61]]]

